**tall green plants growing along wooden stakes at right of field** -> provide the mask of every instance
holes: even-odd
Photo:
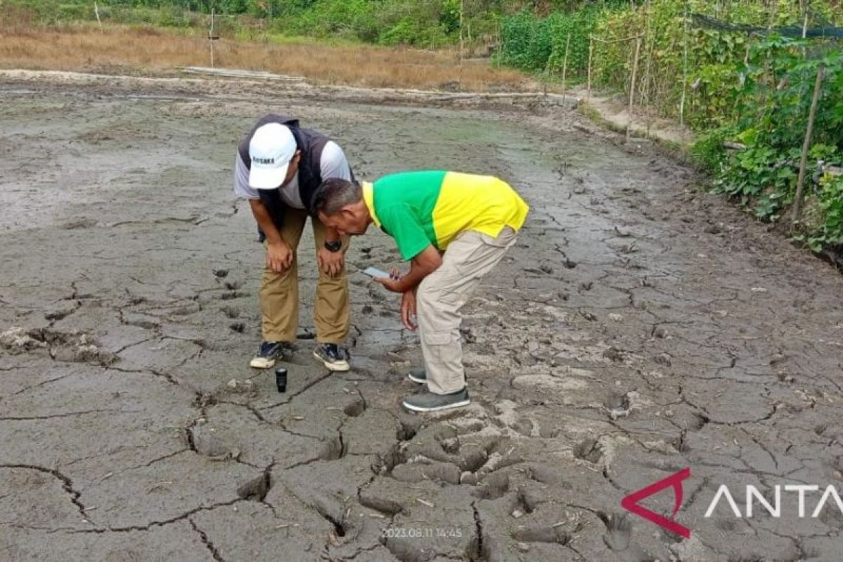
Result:
[[[777,35],[782,27],[801,35],[803,6],[650,0],[637,7],[583,3],[545,17],[523,9],[503,19],[499,60],[556,74],[570,34],[569,73],[582,79],[593,35],[599,38],[593,41],[593,84],[626,93],[640,38],[635,103],[696,131],[701,140],[691,155],[712,174],[714,189],[765,221],[784,217],[793,204],[813,84],[823,63],[805,212],[797,225],[797,239],[819,251],[843,244],[843,177],[820,169],[821,163],[843,163],[843,44]],[[813,0],[810,8],[808,27],[843,24],[838,2]],[[698,24],[695,13],[755,29]],[[724,142],[744,149],[727,150]]]

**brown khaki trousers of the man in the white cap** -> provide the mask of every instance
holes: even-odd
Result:
[[[281,238],[293,249],[293,263],[283,273],[264,266],[260,279],[260,311],[263,316],[264,341],[295,341],[298,332],[298,241],[302,238],[308,213],[287,207],[282,219]],[[326,227],[311,217],[316,249],[325,248]],[[266,243],[265,243],[266,246]],[[343,255],[348,238],[342,239]],[[319,282],[314,298],[314,324],[319,343],[341,344],[346,340],[350,322],[348,278],[342,268],[336,277],[319,270]]]

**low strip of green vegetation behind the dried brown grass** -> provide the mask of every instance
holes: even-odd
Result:
[[[207,14],[213,10],[220,16],[218,24],[235,35],[270,32],[424,48],[456,45],[461,32],[469,43],[490,42],[497,29],[497,14],[506,3],[505,0],[98,0],[100,18],[111,23],[203,28],[207,27]],[[95,19],[92,0],[6,0],[3,5],[27,9],[32,19],[44,24]]]

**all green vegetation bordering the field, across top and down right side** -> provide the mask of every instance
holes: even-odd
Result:
[[[35,23],[94,19],[90,0],[0,0]],[[595,88],[629,92],[640,41],[636,105],[682,120],[698,133],[691,155],[714,188],[756,217],[776,221],[792,206],[798,162],[820,63],[825,80],[808,158],[805,213],[797,236],[812,249],[843,244],[843,179],[820,161],[843,164],[840,38],[803,40],[808,27],[843,25],[840,0],[102,0],[109,22],[205,29],[222,14],[223,35],[435,48],[497,46],[493,62],[569,82],[584,81],[593,45]],[[701,14],[730,29],[695,18]],[[235,15],[237,17],[230,17]],[[786,29],[790,28],[790,29]],[[788,33],[778,33],[785,29]],[[784,35],[784,36],[783,36]],[[788,36],[789,35],[789,36]],[[591,37],[597,40],[591,41]],[[725,149],[724,142],[743,149]]]

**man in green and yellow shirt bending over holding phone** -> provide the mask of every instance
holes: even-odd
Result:
[[[501,179],[445,171],[404,172],[357,184],[328,179],[315,195],[314,210],[341,236],[366,233],[372,223],[395,238],[410,271],[376,279],[400,292],[401,318],[421,332],[424,371],[411,380],[427,393],[404,400],[413,411],[469,404],[462,365],[460,308],[515,244],[529,207]]]

